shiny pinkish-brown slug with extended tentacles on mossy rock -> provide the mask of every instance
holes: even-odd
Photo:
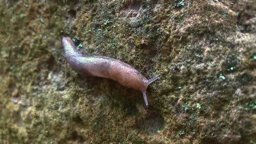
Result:
[[[112,79],[125,87],[137,89],[143,93],[146,107],[148,107],[146,95],[148,85],[159,79],[160,75],[147,80],[131,65],[118,59],[104,56],[84,56],[68,37],[62,38],[62,45],[65,49],[67,62],[74,71],[81,75]]]

